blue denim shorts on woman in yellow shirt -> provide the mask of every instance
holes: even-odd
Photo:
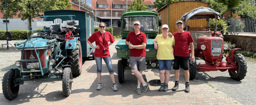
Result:
[[[158,70],[171,70],[172,62],[174,60],[157,60],[158,62]]]

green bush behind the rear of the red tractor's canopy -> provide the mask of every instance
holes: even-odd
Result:
[[[215,28],[215,19],[209,19],[210,31],[214,31]],[[226,21],[220,19],[217,20],[217,31],[221,31],[222,29],[228,27]],[[227,32],[227,29],[221,31],[222,35]]]

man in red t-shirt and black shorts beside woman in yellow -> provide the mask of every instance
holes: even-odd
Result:
[[[183,64],[183,69],[185,73],[185,92],[190,91],[189,87],[189,46],[191,49],[191,56],[190,60],[193,61],[194,56],[194,40],[191,36],[191,34],[188,31],[183,30],[183,23],[181,20],[176,21],[176,29],[177,32],[173,33],[173,36],[175,37],[175,47],[174,47],[174,64],[173,69],[175,69],[175,86],[172,88],[172,90],[177,90],[179,88],[179,72],[180,72],[180,62]]]

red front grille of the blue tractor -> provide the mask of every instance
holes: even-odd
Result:
[[[22,52],[22,51],[21,51],[21,52]],[[32,52],[32,54],[31,54],[31,52]],[[41,62],[42,67],[45,67],[46,64],[45,64],[44,49],[38,49],[37,52],[38,52],[38,54],[39,54],[39,58],[40,58],[40,62]],[[26,56],[25,56],[25,55],[26,55]],[[24,51],[24,54],[23,54],[23,56],[22,56],[22,60],[30,60],[29,57],[30,57],[31,55],[34,56],[34,59],[38,59],[34,50],[25,50],[25,51]],[[27,63],[32,63],[32,62],[27,62]],[[23,68],[27,68],[26,62],[22,62],[22,67],[23,67]]]

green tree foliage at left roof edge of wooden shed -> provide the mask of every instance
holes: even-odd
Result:
[[[155,0],[154,2],[154,8],[157,8],[156,11],[160,10],[163,6],[177,2],[177,1],[182,1],[182,0]]]

